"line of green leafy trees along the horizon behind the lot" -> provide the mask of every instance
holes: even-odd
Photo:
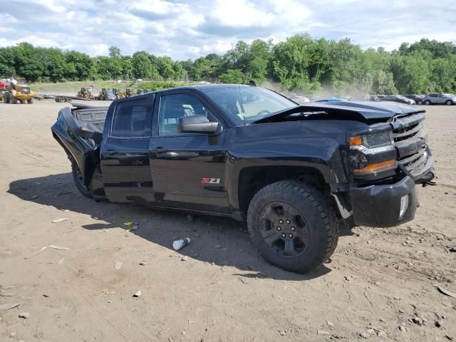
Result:
[[[298,34],[271,40],[239,41],[223,55],[187,61],[138,51],[123,56],[116,46],[109,56],[40,48],[30,43],[0,48],[0,76],[29,82],[137,79],[279,83],[284,90],[316,93],[455,93],[456,45],[421,39],[394,51],[361,49],[345,38],[332,41]]]

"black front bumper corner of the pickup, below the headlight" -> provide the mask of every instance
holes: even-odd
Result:
[[[408,197],[408,207],[400,216],[401,197]],[[415,217],[418,195],[413,179],[405,176],[395,184],[351,187],[351,204],[356,225],[392,227]]]

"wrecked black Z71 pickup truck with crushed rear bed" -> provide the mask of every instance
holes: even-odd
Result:
[[[340,227],[413,219],[416,186],[434,177],[424,119],[398,103],[207,85],[63,108],[52,133],[83,195],[247,221],[267,261],[306,272]]]

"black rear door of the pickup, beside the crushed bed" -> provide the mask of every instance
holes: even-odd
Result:
[[[152,200],[149,140],[153,96],[119,101],[108,118],[111,125],[100,157],[103,187],[110,201],[147,204]]]

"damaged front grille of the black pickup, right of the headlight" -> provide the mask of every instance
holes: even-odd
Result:
[[[398,162],[412,175],[418,175],[427,162],[427,134],[423,129],[423,120],[423,113],[416,113],[397,116],[391,123]]]

